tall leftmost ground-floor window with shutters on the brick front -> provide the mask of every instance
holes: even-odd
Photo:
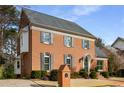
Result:
[[[44,53],[42,55],[42,69],[47,71],[51,68],[51,55],[49,53]]]

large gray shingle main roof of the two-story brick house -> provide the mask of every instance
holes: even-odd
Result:
[[[95,36],[93,36],[91,33],[89,33],[88,31],[86,31],[85,29],[83,29],[74,22],[25,8],[22,11],[24,11],[24,13],[27,15],[32,25],[51,28],[58,31],[61,30],[62,32],[65,33],[72,33],[80,36],[95,38]]]

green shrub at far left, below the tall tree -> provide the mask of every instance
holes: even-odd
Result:
[[[10,64],[8,67],[5,68],[4,71],[4,78],[15,78],[14,74],[14,66]]]

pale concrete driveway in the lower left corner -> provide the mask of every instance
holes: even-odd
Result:
[[[31,80],[5,79],[0,80],[0,87],[39,87],[39,85]]]

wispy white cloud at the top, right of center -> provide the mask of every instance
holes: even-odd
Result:
[[[85,6],[75,6],[73,12],[77,16],[90,15],[93,12],[99,11],[101,6],[98,5],[85,5]]]

